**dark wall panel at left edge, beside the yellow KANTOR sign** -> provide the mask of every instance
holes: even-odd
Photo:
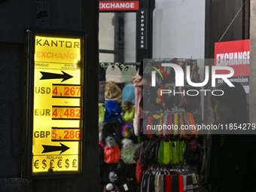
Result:
[[[0,178],[20,177],[23,44],[0,44]]]

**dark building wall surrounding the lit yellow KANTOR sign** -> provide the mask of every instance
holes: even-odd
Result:
[[[99,84],[99,2],[40,2],[12,0],[0,2],[0,188],[1,191],[99,191],[98,163],[98,107],[97,92]],[[84,175],[66,178],[28,179],[22,176],[23,154],[23,90],[25,65],[24,37],[30,27],[42,29],[85,30],[86,40],[86,75],[85,85],[88,90],[84,99],[90,113],[84,120]],[[95,65],[93,65],[95,63]],[[94,91],[90,91],[94,90]]]

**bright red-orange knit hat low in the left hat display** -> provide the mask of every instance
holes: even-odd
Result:
[[[104,157],[105,163],[117,163],[120,160],[120,148],[117,145],[113,148],[108,148],[108,145],[105,145]]]

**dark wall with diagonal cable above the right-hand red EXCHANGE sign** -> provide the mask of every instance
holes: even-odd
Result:
[[[214,58],[215,43],[218,41],[248,39],[249,5],[250,0],[206,0],[206,59]],[[242,9],[239,12],[240,8]],[[237,14],[238,12],[239,14]],[[232,24],[230,25],[230,23]],[[209,65],[213,65],[213,62],[210,62]],[[205,88],[211,90],[211,84],[211,79],[209,79],[208,87]],[[212,123],[210,96],[210,94],[205,96],[204,103],[204,111],[207,114],[204,117],[204,123],[207,124]]]

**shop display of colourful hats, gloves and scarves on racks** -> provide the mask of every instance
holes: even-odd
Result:
[[[172,62],[184,69],[186,65],[191,65],[191,81],[199,81],[196,60],[172,59]],[[145,77],[140,78],[139,75],[142,74],[139,73],[139,70],[143,70],[142,66],[138,66],[137,70],[130,65],[123,65],[122,69],[112,65],[105,69],[100,69],[105,72],[105,79],[104,75],[100,74],[105,81],[99,82],[102,190],[108,184],[114,184],[123,191],[143,191],[145,188],[154,187],[164,187],[166,191],[197,191],[200,187],[198,173],[203,161],[202,138],[198,133],[187,130],[143,133],[143,125],[157,123],[181,127],[185,124],[200,123],[200,96],[160,96],[160,90],[165,89],[163,85],[154,88],[143,87]],[[125,69],[131,72],[123,73]],[[169,82],[164,82],[164,85],[170,90],[178,89],[173,86],[172,70],[166,75]],[[159,83],[162,78],[157,78]],[[185,84],[181,89],[189,90],[190,87]],[[109,107],[108,102],[115,104]],[[112,111],[113,117],[111,120],[104,118],[102,122],[103,116],[109,116],[109,111]],[[114,142],[113,146],[110,141]],[[109,150],[110,146],[112,150]]]

